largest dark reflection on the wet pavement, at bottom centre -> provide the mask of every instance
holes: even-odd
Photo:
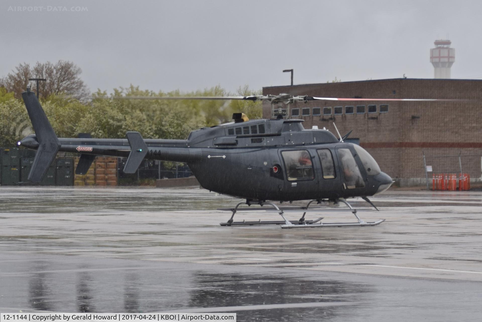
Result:
[[[199,272],[194,275],[196,289],[190,292],[189,307],[217,308],[255,306],[240,313],[238,321],[313,321],[329,319],[346,310],[343,304],[360,301],[373,287],[360,283],[294,277],[292,274],[236,275]],[[341,305],[316,306],[326,302]],[[350,303],[343,303],[350,302]],[[299,303],[299,307],[283,305]],[[278,305],[278,309],[266,309]],[[244,320],[244,317],[249,319]]]

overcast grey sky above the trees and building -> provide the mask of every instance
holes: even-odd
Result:
[[[452,78],[482,78],[480,0],[2,0],[0,30],[0,76],[71,60],[91,91],[261,89],[291,68],[295,84],[433,78],[429,49],[447,35]]]

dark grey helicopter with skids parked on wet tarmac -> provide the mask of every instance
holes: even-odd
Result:
[[[351,131],[338,138],[329,130],[305,129],[303,120],[284,118],[281,110],[272,119],[249,120],[243,113],[234,113],[233,121],[192,131],[187,140],[143,139],[139,132],[129,131],[126,139],[94,139],[89,134],[79,138],[57,138],[35,93],[22,93],[35,134],[18,142],[19,146],[37,150],[28,175],[31,182],[40,182],[57,152],[80,153],[76,174],[85,174],[96,155],[127,157],[123,171],[135,173],[144,159],[187,163],[200,185],[219,194],[246,201],[232,211],[223,226],[281,224],[281,228],[375,226],[384,220],[364,222],[346,200],[368,199],[386,191],[393,183],[375,159],[361,146],[345,142]],[[129,99],[242,99],[268,101],[271,104],[307,102],[311,100],[407,100],[437,101],[447,99],[402,98],[322,98],[311,96],[257,95],[234,97],[129,97]],[[305,207],[279,207],[273,202],[309,200]],[[355,223],[321,223],[321,219],[305,220],[311,203],[344,203],[357,218]],[[260,208],[239,208],[246,204]],[[281,215],[282,221],[234,222],[240,210],[266,210]],[[298,221],[289,221],[288,212],[303,212]],[[319,210],[316,210],[319,211]]]

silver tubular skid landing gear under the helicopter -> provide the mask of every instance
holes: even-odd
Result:
[[[365,198],[363,198],[365,199]],[[368,198],[366,198],[368,199]],[[365,199],[365,200],[366,200]],[[346,211],[349,210],[351,213],[355,215],[357,218],[358,222],[357,223],[321,223],[321,220],[323,217],[320,217],[315,220],[305,220],[305,215],[307,212],[320,212],[323,209],[318,208],[318,209],[309,209],[309,206],[313,202],[317,202],[317,204],[321,204],[321,202],[326,201],[326,200],[311,200],[308,202],[306,207],[278,207],[272,202],[266,202],[266,201],[246,201],[246,202],[240,202],[236,205],[235,208],[223,208],[223,209],[218,209],[218,210],[223,210],[223,211],[232,211],[231,218],[226,223],[221,223],[221,226],[235,226],[235,225],[261,225],[261,224],[279,224],[281,225],[281,228],[309,228],[309,227],[344,227],[344,226],[376,226],[378,224],[381,224],[385,221],[385,219],[380,219],[376,222],[364,222],[360,217],[357,215],[358,210],[353,209],[351,205],[344,199],[338,199],[335,200],[335,203],[341,202],[344,203],[345,205],[348,206],[348,209],[335,209],[335,210],[329,210],[329,211]],[[375,209],[376,207],[371,203],[371,201],[367,200]],[[261,207],[258,208],[239,208],[241,205],[248,205],[251,206],[253,204],[258,204]],[[271,207],[263,207],[263,206],[271,206]],[[281,218],[283,219],[282,221],[242,221],[242,222],[235,222],[233,220],[234,215],[238,211],[255,211],[255,210],[266,210],[267,212],[277,212]],[[378,209],[376,209],[378,210]],[[303,215],[301,216],[300,219],[297,221],[289,221],[286,219],[284,216],[288,212],[302,212]]]

